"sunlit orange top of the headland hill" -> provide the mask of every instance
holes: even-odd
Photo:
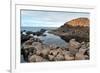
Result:
[[[73,19],[69,22],[64,23],[64,27],[66,27],[67,25],[69,26],[80,26],[80,27],[88,27],[89,26],[89,19],[88,18],[77,18],[77,19]]]

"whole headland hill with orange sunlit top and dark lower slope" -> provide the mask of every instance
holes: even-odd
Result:
[[[89,19],[77,18],[64,23],[63,26],[54,31],[65,41],[76,39],[79,42],[89,41]]]

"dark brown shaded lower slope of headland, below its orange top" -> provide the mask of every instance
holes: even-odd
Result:
[[[49,33],[55,34],[57,36],[60,36],[63,40],[66,42],[69,42],[70,39],[76,39],[78,42],[89,42],[89,27],[72,27],[67,25],[66,28],[64,26],[52,30]]]

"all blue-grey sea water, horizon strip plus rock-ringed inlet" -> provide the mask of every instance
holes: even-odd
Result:
[[[26,31],[39,31],[41,29],[46,29],[47,31],[44,33],[46,36],[39,36],[44,44],[47,45],[57,45],[59,47],[67,47],[67,42],[65,42],[63,39],[61,39],[59,36],[48,33],[48,31],[57,29],[56,27],[21,27],[21,30]]]

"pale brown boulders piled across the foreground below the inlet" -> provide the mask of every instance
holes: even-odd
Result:
[[[29,37],[29,34],[28,34]],[[89,42],[71,39],[67,48],[43,44],[39,38],[31,36],[21,44],[21,55],[25,62],[89,60]]]

